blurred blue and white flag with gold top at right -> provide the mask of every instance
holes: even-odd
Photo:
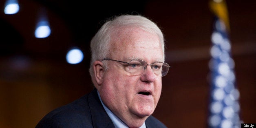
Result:
[[[210,49],[209,128],[241,128],[240,93],[236,86],[234,60],[229,40],[229,24],[225,1],[210,1],[214,13]]]

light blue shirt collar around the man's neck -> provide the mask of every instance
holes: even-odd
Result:
[[[119,119],[114,113],[111,112],[111,110],[109,110],[102,102],[102,99],[99,95],[99,92],[97,90],[98,96],[99,96],[99,100],[102,103],[103,108],[106,110],[108,116],[110,117],[110,119],[112,120],[113,124],[115,125],[115,128],[129,128],[123,121],[121,121],[121,119]],[[143,125],[139,128],[146,128],[146,124],[145,122],[143,123]]]

